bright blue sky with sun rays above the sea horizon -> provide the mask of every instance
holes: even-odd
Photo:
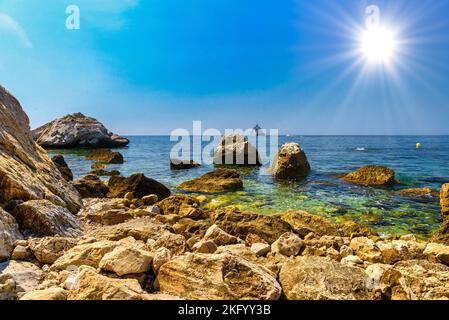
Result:
[[[387,65],[360,53],[370,4],[395,33]],[[449,134],[448,15],[449,0],[0,0],[0,84],[33,127],[80,111],[120,134]]]

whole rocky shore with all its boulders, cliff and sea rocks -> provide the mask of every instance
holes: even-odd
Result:
[[[434,300],[449,299],[449,184],[399,188],[382,165],[340,174],[341,183],[439,198],[431,237],[381,234],[303,208],[273,214],[214,206],[243,192],[227,153],[259,166],[257,150],[224,136],[210,172],[173,188],[127,161],[130,141],[83,114],[31,131],[20,103],[0,87],[0,299],[2,300]],[[91,171],[73,174],[43,148],[88,148]],[[256,154],[250,163],[250,155]],[[165,159],[166,170],[196,170]],[[298,143],[283,144],[273,179],[301,181],[313,166]],[[317,181],[315,181],[317,182]],[[319,182],[319,181],[318,181]],[[449,181],[447,181],[449,182]]]

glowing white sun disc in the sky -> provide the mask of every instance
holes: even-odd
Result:
[[[397,42],[392,30],[385,27],[372,27],[363,31],[361,51],[373,63],[388,63],[394,58]]]

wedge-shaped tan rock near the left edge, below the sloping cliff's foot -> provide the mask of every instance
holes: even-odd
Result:
[[[28,240],[28,246],[41,263],[52,264],[77,243],[74,238],[44,237]]]

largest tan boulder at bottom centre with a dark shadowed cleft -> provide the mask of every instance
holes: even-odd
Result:
[[[281,287],[266,268],[228,252],[188,253],[165,263],[159,287],[194,300],[277,300]]]

